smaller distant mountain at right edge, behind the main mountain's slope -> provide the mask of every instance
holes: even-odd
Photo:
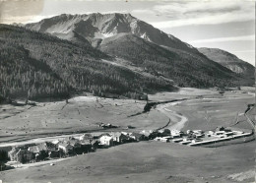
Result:
[[[198,50],[206,55],[209,59],[222,64],[231,71],[254,78],[254,66],[237,58],[235,55],[219,48],[202,47],[198,48]]]

